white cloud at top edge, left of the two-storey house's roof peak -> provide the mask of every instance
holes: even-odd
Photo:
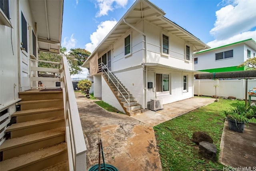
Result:
[[[124,8],[128,0],[97,0],[100,11],[97,12],[96,17],[106,16],[109,11],[113,11],[116,8]]]

